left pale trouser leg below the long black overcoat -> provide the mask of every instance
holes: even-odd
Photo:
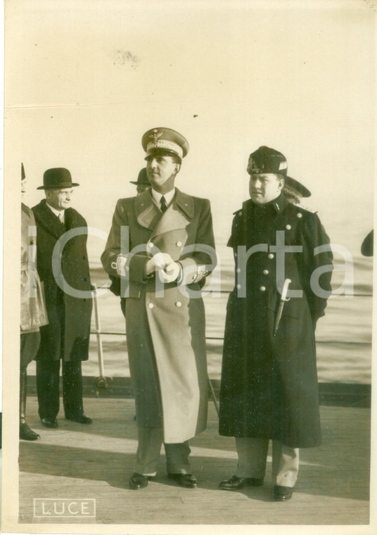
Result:
[[[264,479],[269,440],[236,438],[236,449],[238,454],[236,476]]]

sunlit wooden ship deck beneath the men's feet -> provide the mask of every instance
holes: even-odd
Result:
[[[369,408],[321,406],[323,444],[301,450],[293,499],[275,503],[270,458],[264,486],[217,489],[234,473],[236,453],[234,439],[217,433],[212,403],[207,430],[191,441],[198,488],[168,480],[162,454],[158,477],[141,491],[128,487],[136,451],[134,401],[86,398],[84,405],[92,425],[59,415],[58,429],[46,429],[35,396],[28,398],[28,422],[41,440],[20,441],[20,523],[41,523],[33,518],[33,499],[50,497],[95,498],[96,524],[369,524]],[[53,532],[51,524],[44,529]]]

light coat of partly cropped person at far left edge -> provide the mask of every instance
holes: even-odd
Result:
[[[20,332],[39,331],[49,322],[37,272],[37,226],[32,210],[21,203],[21,318]]]

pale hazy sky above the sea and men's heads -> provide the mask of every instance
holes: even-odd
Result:
[[[373,16],[364,0],[8,1],[6,205],[21,161],[29,206],[44,170],[66,167],[72,206],[108,232],[134,195],[143,133],[165,126],[188,139],[176,185],[210,199],[217,241],[267,145],[312,191],[331,241],[359,255],[373,227]]]

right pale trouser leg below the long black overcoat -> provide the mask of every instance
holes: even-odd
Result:
[[[272,441],[272,482],[279,486],[295,486],[298,477],[299,449],[280,441]]]

